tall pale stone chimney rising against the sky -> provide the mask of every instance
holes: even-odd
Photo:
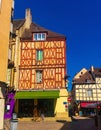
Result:
[[[25,22],[25,28],[29,29],[30,25],[32,23],[32,15],[31,15],[30,9],[26,9],[25,20],[26,20],[26,22]]]

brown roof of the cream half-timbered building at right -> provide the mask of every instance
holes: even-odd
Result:
[[[84,73],[82,70],[74,77],[73,84],[95,83],[95,78],[101,77],[101,68],[91,68]]]

